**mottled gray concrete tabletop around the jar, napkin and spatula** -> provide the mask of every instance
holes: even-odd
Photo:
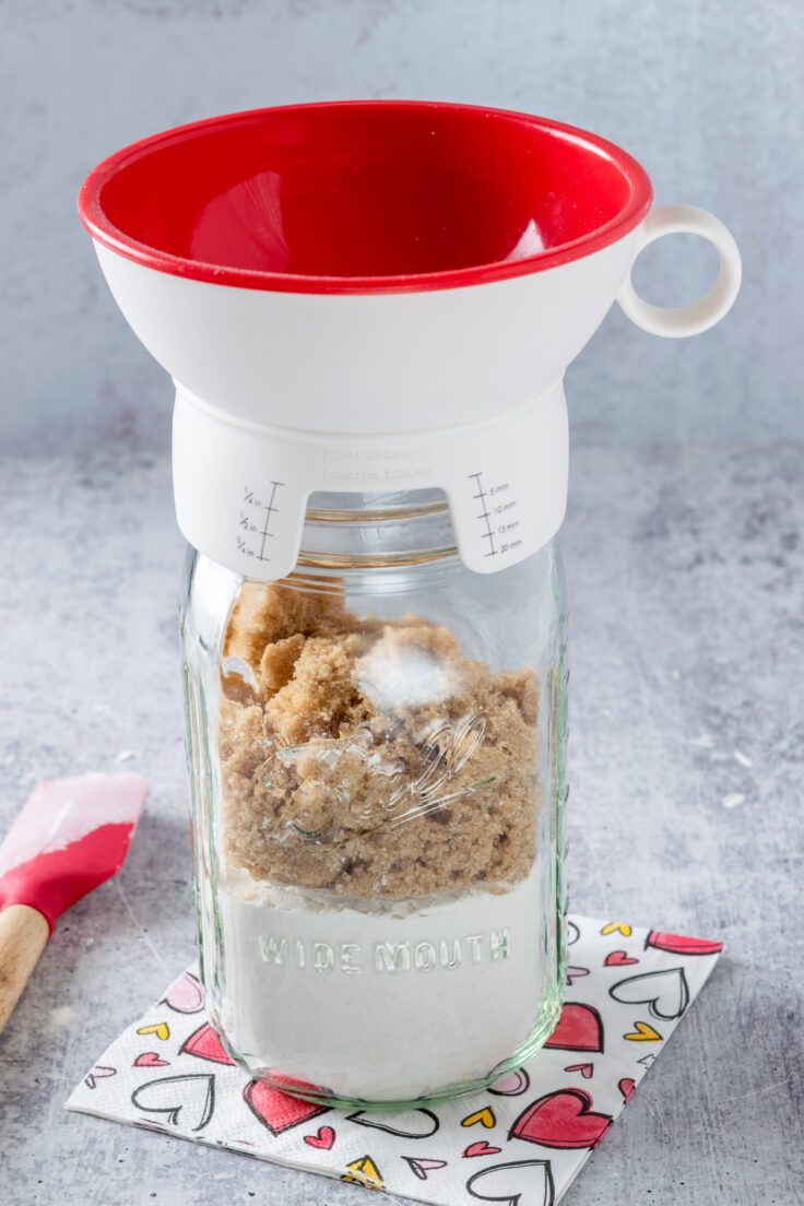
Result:
[[[193,955],[182,549],[165,457],[0,470],[0,832],[39,779],[127,751],[152,789],[0,1037],[0,1206],[368,1200],[64,1111]],[[803,475],[804,446],[575,451],[573,908],[726,953],[568,1206],[804,1200]]]

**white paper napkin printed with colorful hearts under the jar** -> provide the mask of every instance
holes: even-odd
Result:
[[[250,1081],[190,968],[100,1056],[69,1110],[435,1206],[553,1206],[630,1099],[720,942],[570,919],[567,1003],[545,1047],[485,1093],[400,1113],[330,1110]]]

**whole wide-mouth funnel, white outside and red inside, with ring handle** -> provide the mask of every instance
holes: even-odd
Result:
[[[691,335],[739,289],[722,223],[651,200],[642,168],[583,130],[419,101],[235,113],[106,159],[81,218],[174,377],[189,543],[282,578],[313,491],[438,486],[470,568],[535,551],[567,500],[564,370],[611,303]],[[630,269],[675,232],[712,242],[721,270],[667,310]]]

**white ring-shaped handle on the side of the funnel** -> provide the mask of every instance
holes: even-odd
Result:
[[[723,315],[732,309],[740,289],[741,277],[740,252],[734,238],[723,223],[714,215],[708,213],[706,210],[699,210],[696,205],[659,205],[647,215],[639,233],[636,253],[617,298],[630,321],[652,335],[665,335],[669,339],[698,335],[702,330],[709,330],[716,322],[720,322]],[[721,258],[717,280],[709,293],[698,302],[693,302],[692,305],[677,308],[651,305],[650,302],[640,298],[632,283],[630,274],[636,256],[650,242],[655,242],[656,239],[661,239],[665,234],[698,234],[717,248]]]

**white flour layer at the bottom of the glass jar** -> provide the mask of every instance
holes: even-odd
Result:
[[[230,1041],[254,1069],[359,1100],[486,1077],[542,997],[538,866],[510,891],[354,901],[259,883],[218,890]]]

